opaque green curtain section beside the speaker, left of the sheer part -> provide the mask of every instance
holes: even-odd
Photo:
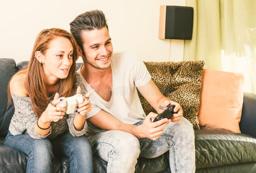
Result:
[[[204,60],[204,68],[221,70],[220,6],[217,0],[187,0],[194,8],[192,40],[185,40],[184,60]]]

